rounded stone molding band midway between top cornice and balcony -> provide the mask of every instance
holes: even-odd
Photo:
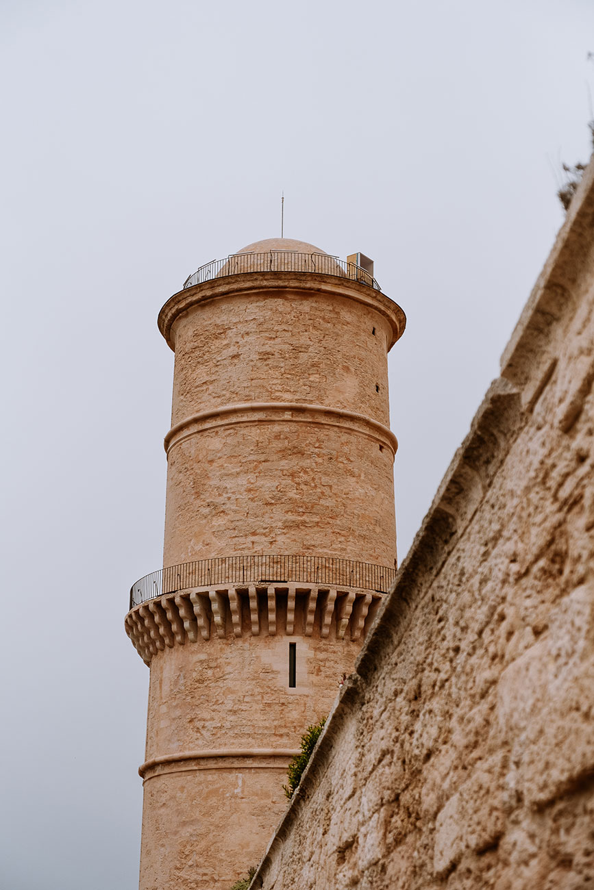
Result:
[[[257,417],[257,413],[263,416]],[[287,417],[288,412],[295,412],[299,415],[309,413],[318,417]],[[241,414],[248,414],[248,417],[238,417]],[[276,415],[270,417],[268,415]],[[327,415],[325,419],[321,415]],[[223,418],[227,419],[223,419]],[[221,418],[221,419],[218,419]],[[350,421],[348,425],[345,421]],[[370,436],[381,445],[387,447],[395,455],[398,449],[398,440],[392,430],[384,424],[380,424],[378,420],[373,420],[364,414],[358,414],[356,411],[348,411],[342,408],[329,408],[327,405],[308,405],[306,402],[299,401],[250,401],[242,402],[236,405],[223,405],[221,408],[209,409],[207,411],[199,411],[197,414],[191,415],[181,420],[178,424],[171,427],[164,441],[167,454],[169,450],[179,442],[187,439],[196,433],[202,433],[205,430],[212,429],[216,426],[229,426],[233,424],[266,424],[266,423],[313,423],[324,424],[330,426],[339,426],[342,429],[351,430],[354,433],[362,433]],[[200,425],[199,429],[183,433],[192,424]],[[368,429],[361,429],[366,426]],[[370,430],[372,432],[370,432]]]

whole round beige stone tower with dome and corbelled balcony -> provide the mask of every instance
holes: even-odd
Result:
[[[164,569],[126,616],[151,667],[141,890],[228,890],[258,862],[289,757],[354,666],[395,574],[404,323],[365,257],[290,239],[208,263],[159,313]]]

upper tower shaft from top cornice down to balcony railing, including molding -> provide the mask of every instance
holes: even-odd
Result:
[[[385,295],[328,275],[235,275],[166,303],[165,565],[252,552],[394,565],[387,350],[403,323]]]

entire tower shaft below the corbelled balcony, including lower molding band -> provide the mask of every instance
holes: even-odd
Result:
[[[213,635],[151,660],[142,888],[228,890],[258,862],[287,803],[289,756],[305,727],[329,713],[360,649],[335,634],[321,639],[320,629]]]

